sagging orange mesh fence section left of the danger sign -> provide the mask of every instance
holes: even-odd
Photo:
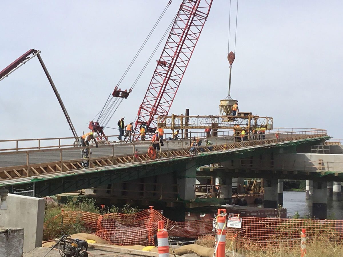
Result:
[[[175,222],[165,218],[161,213],[143,210],[135,214],[110,213],[99,215],[83,211],[66,211],[62,216],[63,223],[73,224],[82,221],[85,228],[116,245],[154,245],[157,223],[165,221],[169,236],[198,238],[213,234],[213,219]]]

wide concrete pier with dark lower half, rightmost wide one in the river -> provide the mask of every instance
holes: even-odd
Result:
[[[313,182],[312,215],[320,220],[327,218],[327,182]]]

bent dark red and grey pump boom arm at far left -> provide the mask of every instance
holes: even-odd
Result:
[[[24,65],[27,61],[31,60],[32,58],[34,58],[35,56],[37,56],[40,65],[42,65],[42,68],[45,72],[45,75],[47,76],[50,85],[52,87],[52,90],[54,90],[54,93],[57,97],[58,102],[60,103],[60,106],[62,108],[62,111],[64,113],[64,116],[66,116],[67,118],[67,122],[69,123],[70,129],[73,132],[73,135],[76,139],[78,139],[78,134],[76,133],[76,130],[74,128],[73,123],[71,122],[71,119],[69,117],[69,114],[67,112],[66,107],[64,106],[62,99],[60,97],[60,94],[57,91],[57,88],[54,84],[54,82],[52,81],[52,78],[42,60],[42,57],[40,57],[40,51],[39,50],[35,50],[35,49],[30,49],[28,50],[26,53],[24,53],[21,57],[19,57],[18,59],[16,59],[14,62],[12,62],[10,65],[8,65],[5,69],[3,69],[0,72],[0,81],[2,81],[2,79],[4,79],[5,77],[7,77],[9,74],[11,74],[12,72],[14,72],[16,69],[18,69],[20,66]],[[32,54],[32,56],[31,56]]]

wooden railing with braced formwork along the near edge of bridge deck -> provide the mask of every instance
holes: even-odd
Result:
[[[247,140],[243,142],[230,142],[227,138],[220,138],[213,140],[211,150],[208,148],[209,146],[205,146],[205,142],[201,145],[204,152],[213,152],[213,151],[221,151],[221,150],[228,150],[228,149],[235,149],[235,148],[242,148],[242,147],[251,147],[256,145],[264,145],[264,144],[271,144],[271,143],[280,143],[280,142],[287,142],[293,140],[301,140],[306,138],[316,138],[316,137],[324,137],[327,136],[326,130],[304,130],[304,131],[293,131],[293,132],[280,132],[276,137],[275,134],[269,133],[265,134],[265,138],[261,137],[260,140],[255,138],[255,140],[250,140],[251,137],[247,136]],[[189,140],[167,140],[165,141],[165,146],[163,147],[164,150],[158,151],[158,158],[175,158],[180,156],[189,156],[190,152],[190,145]],[[145,142],[146,143],[146,142]],[[141,143],[139,143],[141,144]],[[149,142],[148,142],[149,144]],[[139,153],[135,153],[135,149],[137,144],[131,143],[131,151],[126,149],[125,154],[116,154],[119,147],[123,145],[100,145],[97,149],[106,149],[106,155],[91,158],[89,155],[88,160],[90,163],[90,168],[94,167],[105,167],[111,165],[131,165],[132,162],[150,162],[156,161],[151,160],[149,155],[146,151],[142,151]],[[128,146],[128,145],[125,145]],[[145,149],[147,150],[146,145]],[[94,146],[86,147],[91,148]],[[31,177],[31,176],[39,176],[39,175],[46,175],[52,173],[61,173],[61,172],[72,172],[75,170],[82,170],[82,161],[81,158],[75,159],[66,159],[64,158],[68,151],[68,156],[70,153],[75,154],[76,152],[80,152],[81,149],[85,147],[66,147],[66,148],[59,148],[58,152],[58,160],[44,162],[44,163],[32,163],[30,162],[31,156],[37,156],[42,153],[46,152],[53,152],[56,149],[40,149],[40,150],[27,150],[27,151],[12,151],[12,152],[0,152],[0,160],[1,158],[9,158],[11,156],[17,156],[16,158],[25,158],[26,157],[26,164],[23,165],[16,165],[16,166],[7,166],[7,167],[0,167],[0,180],[12,180],[17,178],[24,178],[24,177]],[[127,148],[127,147],[126,147]],[[166,149],[165,149],[166,148]],[[90,150],[90,149],[88,149]],[[70,152],[71,151],[71,152]],[[64,156],[64,157],[63,157]],[[158,159],[157,159],[158,160]]]

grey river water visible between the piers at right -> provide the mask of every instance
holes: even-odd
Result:
[[[287,209],[287,217],[292,217],[296,211],[300,216],[308,216],[312,210],[305,192],[284,191],[283,207]],[[328,219],[343,220],[343,201],[328,199]]]

